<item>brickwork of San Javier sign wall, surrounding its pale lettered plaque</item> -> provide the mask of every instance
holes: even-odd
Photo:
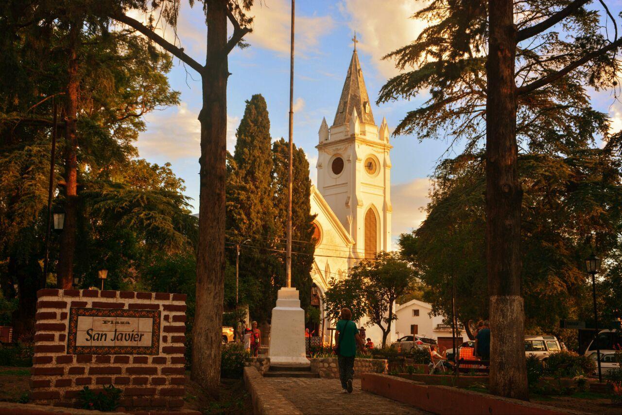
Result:
[[[124,408],[183,406],[185,295],[44,289],[37,292],[37,297],[32,401],[72,406],[85,386],[97,392],[113,384],[123,389]],[[69,354],[72,308],[159,311],[154,320],[154,327],[159,323],[159,343],[154,341],[152,347],[156,354]]]

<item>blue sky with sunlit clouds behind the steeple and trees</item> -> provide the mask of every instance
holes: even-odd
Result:
[[[205,62],[207,28],[200,4],[191,8],[182,0],[177,44],[200,63]],[[235,131],[244,114],[245,100],[255,93],[266,98],[273,140],[287,138],[289,112],[289,28],[290,1],[255,1],[249,15],[254,16],[253,32],[245,37],[250,46],[236,48],[229,56],[227,148],[233,152]],[[612,10],[620,12],[620,1]],[[315,182],[318,129],[322,117],[332,125],[341,88],[350,63],[354,32],[358,55],[371,102],[378,98],[382,85],[398,72],[390,60],[382,57],[413,41],[425,22],[409,17],[421,7],[414,0],[313,0],[296,4],[294,143],[304,149]],[[164,36],[174,40],[172,29]],[[185,181],[185,194],[198,211],[198,158],[200,155],[197,121],[202,97],[199,77],[193,70],[174,60],[168,74],[174,90],[181,93],[177,107],[146,116],[147,130],[137,146],[142,158],[152,163],[172,164],[175,174]],[[376,123],[386,117],[389,129],[396,126],[407,111],[419,107],[425,94],[411,101],[373,105]],[[592,93],[596,109],[613,117],[613,126],[622,128],[622,105],[608,92]],[[425,218],[429,176],[447,153],[444,140],[419,141],[417,136],[391,138],[391,201],[394,237],[412,231]]]

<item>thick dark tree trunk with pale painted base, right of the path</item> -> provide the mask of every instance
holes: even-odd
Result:
[[[488,2],[486,62],[486,255],[490,391],[529,399],[521,297],[521,199],[516,145],[516,26],[511,0]]]

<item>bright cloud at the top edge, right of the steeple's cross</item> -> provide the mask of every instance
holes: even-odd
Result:
[[[411,19],[426,2],[393,0],[389,7],[387,3],[386,0],[348,0],[340,3],[340,9],[350,17],[348,26],[357,33],[357,49],[370,54],[381,75],[389,78],[399,72],[392,60],[382,57],[414,41],[428,23]]]

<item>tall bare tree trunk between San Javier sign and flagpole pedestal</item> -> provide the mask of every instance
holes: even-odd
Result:
[[[220,386],[221,323],[225,293],[225,161],[227,123],[227,2],[207,2],[207,67],[201,123],[197,309],[192,379],[208,393]]]

